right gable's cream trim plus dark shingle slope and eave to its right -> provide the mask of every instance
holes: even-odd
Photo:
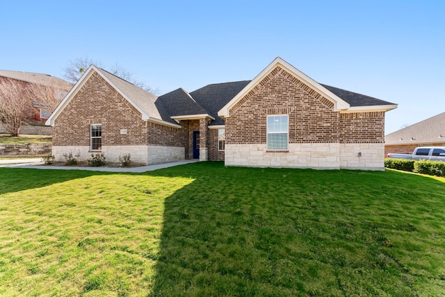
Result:
[[[282,58],[277,57],[268,65],[268,67],[261,71],[259,75],[257,75],[248,85],[246,85],[241,92],[236,94],[231,101],[224,105],[224,107],[218,112],[218,115],[220,117],[227,117],[229,115],[229,110],[236,105],[238,101],[243,99],[244,96],[252,92],[261,82],[261,80],[266,78],[266,76],[268,76],[270,72],[274,71],[277,67],[285,69],[287,72],[289,72],[289,74],[298,78],[298,80],[301,80],[302,83],[305,83],[305,85],[311,87],[312,90],[315,90],[318,92],[318,94],[321,94],[321,96],[324,96],[327,100],[334,103],[334,110],[336,111],[387,111],[397,108],[397,105],[394,103],[341,90],[337,87],[321,85],[306,74],[302,73],[300,70],[296,69],[296,67],[293,67],[288,62],[284,61]]]

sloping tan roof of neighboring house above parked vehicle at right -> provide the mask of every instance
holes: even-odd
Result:
[[[385,144],[432,144],[445,142],[445,112],[385,135]]]

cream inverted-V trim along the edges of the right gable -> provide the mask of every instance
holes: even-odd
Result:
[[[268,74],[270,74],[275,67],[280,66],[284,68],[286,71],[291,73],[293,76],[296,76],[298,79],[302,80],[303,83],[309,85],[309,87],[312,87],[312,89],[316,90],[319,94],[325,96],[326,99],[332,101],[334,103],[334,111],[338,110],[347,110],[350,108],[349,103],[341,99],[339,96],[335,95],[334,93],[327,90],[325,87],[317,83],[315,80],[307,76],[306,74],[302,73],[300,70],[296,69],[296,67],[293,67],[288,62],[284,61],[282,58],[277,57],[273,62],[271,62],[268,67],[266,67],[263,71],[261,71],[260,74],[258,74],[248,85],[244,87],[241,92],[239,92],[234,98],[229,101],[223,108],[218,111],[218,116],[220,117],[228,117],[229,116],[229,110],[238,103],[239,100],[245,96],[245,94],[248,94],[261,80],[263,80]]]

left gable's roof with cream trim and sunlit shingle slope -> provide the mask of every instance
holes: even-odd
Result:
[[[141,119],[143,121],[155,121],[159,124],[167,124],[168,126],[175,126],[179,128],[177,124],[173,124],[171,121],[164,121],[161,114],[156,108],[155,101],[157,97],[154,94],[145,92],[136,85],[133,85],[118,76],[115,76],[104,69],[91,65],[85,74],[77,81],[77,83],[72,87],[72,90],[65,96],[63,101],[57,106],[56,110],[47,119],[47,125],[54,126],[54,121],[58,115],[67,107],[74,96],[81,90],[83,85],[88,81],[92,74],[97,73],[99,76],[104,78],[108,84],[113,87],[125,100],[127,100],[131,105],[133,105],[138,112],[141,114]]]

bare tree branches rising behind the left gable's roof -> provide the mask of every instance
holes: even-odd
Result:
[[[83,75],[83,72],[85,72],[86,69],[88,69],[88,67],[90,67],[90,65],[92,64],[97,67],[104,68],[101,61],[92,60],[88,57],[76,58],[75,60],[68,62],[67,66],[64,69],[63,77],[65,77],[67,80],[70,80],[70,82],[72,83],[76,83],[76,81],[79,80],[79,78],[81,78],[81,76]],[[133,74],[131,74],[131,72],[127,71],[126,69],[124,69],[124,67],[118,64],[113,65],[110,72],[115,76],[118,76],[123,80],[127,80],[129,83],[140,87],[146,92],[159,94],[159,88],[153,89],[143,81],[133,78]]]

